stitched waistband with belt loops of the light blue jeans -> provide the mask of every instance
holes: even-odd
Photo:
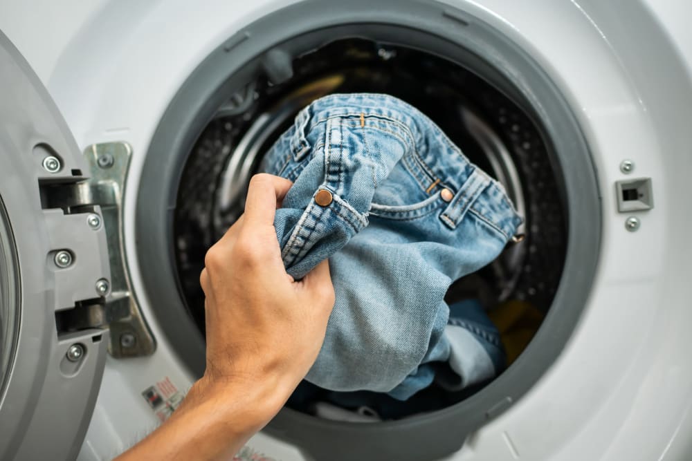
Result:
[[[437,124],[410,104],[389,95],[372,93],[322,97],[303,109],[295,119],[295,135],[291,139],[293,160],[300,162],[309,152],[307,133],[320,124],[326,126],[324,142],[328,167],[325,185],[336,194],[348,197],[354,209],[361,209],[357,197],[345,190],[344,187],[348,189],[348,186],[343,184],[342,169],[348,160],[335,157],[330,162],[330,152],[345,149],[341,144],[344,126],[376,128],[396,136],[405,147],[403,153],[385,153],[391,158],[372,162],[374,187],[388,176],[394,163],[401,161],[428,194],[438,194],[443,189],[453,192],[453,198],[440,216],[445,225],[454,229],[466,212],[472,211],[504,236],[511,237],[516,226],[516,214],[502,185],[475,167]],[[488,200],[477,200],[481,196]]]

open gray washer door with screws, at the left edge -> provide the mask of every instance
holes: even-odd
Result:
[[[0,459],[73,459],[108,344],[105,231],[66,123],[2,33],[0,88]]]

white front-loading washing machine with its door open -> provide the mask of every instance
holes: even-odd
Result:
[[[237,459],[692,459],[691,14],[0,2],[0,458],[108,460],[164,421],[262,155],[311,100],[370,91],[503,183],[526,238],[457,288],[538,321],[484,386],[381,420],[289,402]]]

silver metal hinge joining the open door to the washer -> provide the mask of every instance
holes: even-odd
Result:
[[[39,180],[44,211],[60,208],[65,217],[81,215],[92,230],[105,230],[111,272],[110,279],[95,281],[93,299],[75,301],[74,309],[59,310],[57,326],[59,330],[108,326],[108,350],[118,358],[150,355],[156,350],[132,290],[123,241],[122,200],[131,153],[125,142],[92,144],[84,149],[89,178],[75,178],[74,182]],[[69,250],[56,251],[54,257],[60,267],[71,254]]]

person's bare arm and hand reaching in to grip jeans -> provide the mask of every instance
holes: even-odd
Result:
[[[123,453],[130,460],[230,460],[280,410],[322,346],[334,306],[327,261],[286,274],[273,226],[291,182],[266,174],[245,214],[207,253],[207,361],[175,413]]]

